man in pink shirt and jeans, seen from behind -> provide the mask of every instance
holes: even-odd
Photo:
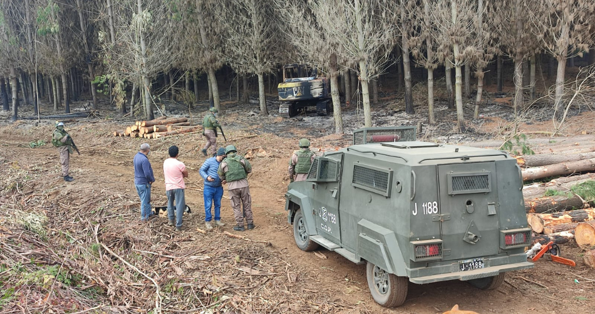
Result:
[[[171,146],[169,149],[170,158],[163,162],[163,174],[165,177],[165,193],[167,194],[167,218],[169,226],[174,225],[176,218],[176,231],[182,230],[182,215],[186,208],[184,200],[184,189],[186,183],[184,178],[188,177],[186,165],[178,160],[179,150],[177,146]],[[174,206],[174,202],[176,202]],[[174,208],[176,211],[174,212]]]

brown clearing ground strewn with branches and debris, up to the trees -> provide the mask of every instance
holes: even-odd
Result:
[[[480,108],[484,117],[469,120],[473,131],[459,133],[456,113],[445,101],[436,104],[439,123],[428,125],[423,89],[414,94],[420,100],[416,114],[407,115],[394,93],[381,93],[380,103],[372,106],[374,126],[421,121],[419,137],[441,143],[504,141],[511,134],[515,117],[509,95],[488,90]],[[165,102],[165,114],[192,117],[198,124],[207,106],[201,102],[189,110],[181,103]],[[256,228],[245,233],[231,230],[233,212],[226,198],[221,212],[227,225],[201,232],[205,214],[198,169],[205,158],[198,151],[204,144],[200,134],[158,140],[114,137],[114,130],[135,119],[121,117],[102,99],[95,117],[67,122],[81,155],[71,155],[75,180],[65,183],[58,153],[51,146],[55,121],[13,124],[8,112],[0,112],[2,313],[155,313],[156,304],[164,313],[441,313],[455,304],[479,313],[595,313],[595,271],[583,266],[574,243],[564,244],[562,255],[576,260],[576,268],[541,259],[533,269],[509,273],[493,291],[461,281],[410,283],[403,306],[378,306],[368,291],[365,265],[324,249],[299,250],[284,211],[287,160],[297,140],[308,137],[320,150],[349,145],[352,131],[362,125],[362,111],[357,106],[344,108],[345,135],[337,136],[332,117],[279,117],[273,95],[268,98],[268,117],[258,115],[256,99],[248,105],[224,101],[222,106],[227,144],[252,156],[249,181]],[[84,111],[89,103],[75,102],[71,108]],[[519,131],[547,137],[553,131],[549,108],[533,105],[519,120]],[[595,114],[585,108],[571,109],[564,136],[594,130]],[[42,112],[52,110],[42,106]],[[465,116],[472,112],[468,101]],[[24,108],[21,114],[33,112]],[[47,144],[31,148],[38,140]],[[165,218],[139,221],[132,158],[143,142],[152,149],[153,206],[166,202],[161,164],[167,147],[179,146],[180,160],[189,168],[186,202],[192,213],[184,216],[188,229],[181,233],[167,227]],[[218,144],[224,144],[222,137]]]

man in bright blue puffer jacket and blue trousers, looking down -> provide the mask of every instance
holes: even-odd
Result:
[[[225,158],[225,149],[219,147],[217,155],[206,159],[205,163],[202,164],[201,177],[205,180],[205,191],[203,196],[205,197],[205,228],[211,230],[211,206],[215,203],[215,225],[223,227],[225,224],[221,222],[221,197],[223,197],[223,186],[221,186],[221,179],[217,174],[219,164]]]

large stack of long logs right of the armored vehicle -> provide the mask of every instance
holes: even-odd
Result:
[[[469,146],[499,148],[494,144],[477,142]],[[516,161],[528,184],[522,192],[528,224],[536,233],[533,243],[575,241],[587,250],[584,263],[595,267],[595,250],[591,250],[595,247],[593,200],[584,200],[571,190],[577,184],[595,181],[595,136],[530,139],[526,144],[536,155],[516,156]],[[547,183],[530,184],[558,176]]]

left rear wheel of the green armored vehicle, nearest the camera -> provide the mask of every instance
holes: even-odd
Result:
[[[409,280],[389,274],[380,267],[368,262],[366,265],[368,287],[374,301],[383,307],[395,307],[405,303]]]

